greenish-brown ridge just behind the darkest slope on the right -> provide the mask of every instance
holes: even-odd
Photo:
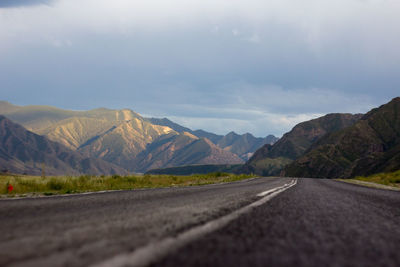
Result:
[[[302,156],[312,144],[326,134],[349,127],[362,117],[361,114],[332,113],[297,124],[274,145],[264,145],[257,150],[242,171],[260,175],[277,175]]]

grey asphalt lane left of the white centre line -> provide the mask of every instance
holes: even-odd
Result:
[[[290,179],[0,200],[0,266],[88,266],[249,205]]]

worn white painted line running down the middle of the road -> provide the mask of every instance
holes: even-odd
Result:
[[[116,255],[113,258],[94,264],[92,265],[92,267],[148,266],[151,263],[154,263],[162,259],[163,257],[167,256],[169,253],[176,251],[179,248],[189,244],[190,242],[224,227],[232,220],[238,218],[240,215],[245,214],[251,211],[253,208],[268,202],[273,197],[277,196],[279,193],[282,193],[283,191],[296,185],[296,183],[297,179],[294,179],[290,183],[285,184],[284,186],[276,187],[274,189],[265,191],[268,192],[267,196],[251,203],[248,206],[240,208],[239,210],[236,210],[228,215],[225,215],[213,221],[209,221],[203,225],[193,227],[183,233],[178,234],[175,237],[166,237],[154,243],[150,243],[148,245],[136,249],[131,253]]]

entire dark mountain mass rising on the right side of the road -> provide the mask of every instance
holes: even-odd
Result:
[[[400,98],[367,114],[302,122],[257,150],[240,172],[337,178],[400,169]]]

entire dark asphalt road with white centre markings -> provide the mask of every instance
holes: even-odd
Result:
[[[400,266],[400,193],[326,179],[0,200],[0,266]]]

